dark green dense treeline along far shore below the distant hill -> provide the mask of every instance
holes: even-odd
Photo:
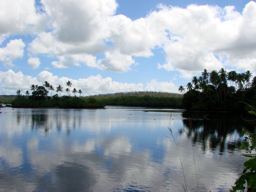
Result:
[[[182,98],[175,97],[151,97],[117,96],[97,98],[106,105],[145,106],[145,107],[182,107]]]

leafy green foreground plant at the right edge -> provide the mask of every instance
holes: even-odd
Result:
[[[250,105],[249,107],[251,111],[248,112],[256,115],[255,108]],[[256,191],[256,136],[247,129],[242,130],[242,136],[244,137],[244,143],[240,150],[245,150],[246,154],[243,156],[249,157],[250,159],[244,162],[244,170],[236,180],[235,186],[232,186],[233,189],[230,192],[244,191],[245,186],[247,186],[247,191]]]

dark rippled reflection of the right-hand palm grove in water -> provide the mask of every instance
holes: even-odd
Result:
[[[200,143],[202,150],[220,155],[237,150],[241,146],[242,128],[253,131],[253,124],[241,116],[228,113],[182,113],[184,130],[193,144]],[[184,131],[180,129],[180,134]]]

